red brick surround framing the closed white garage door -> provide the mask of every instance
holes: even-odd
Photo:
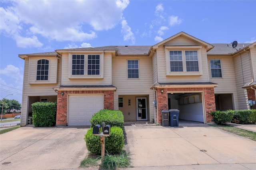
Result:
[[[62,93],[63,92],[63,96]],[[58,91],[56,125],[67,125],[68,94],[103,94],[104,109],[114,109],[114,91]]]

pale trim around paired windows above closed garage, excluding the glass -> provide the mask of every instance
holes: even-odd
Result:
[[[72,75],[72,55],[84,55],[84,75]],[[87,75],[88,55],[100,55],[100,75]],[[68,78],[103,78],[104,53],[68,53]]]

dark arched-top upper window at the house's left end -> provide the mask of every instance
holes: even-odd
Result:
[[[41,59],[37,61],[36,80],[48,80],[49,60]]]

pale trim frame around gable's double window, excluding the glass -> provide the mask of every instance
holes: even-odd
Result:
[[[164,52],[166,57],[166,76],[200,76],[203,75],[202,71],[202,57],[201,57],[201,48],[202,46],[165,46]],[[170,71],[170,52],[169,51],[182,51],[182,67],[183,72],[171,72]],[[185,51],[197,51],[198,57],[198,70],[199,71],[186,71],[186,57]]]

